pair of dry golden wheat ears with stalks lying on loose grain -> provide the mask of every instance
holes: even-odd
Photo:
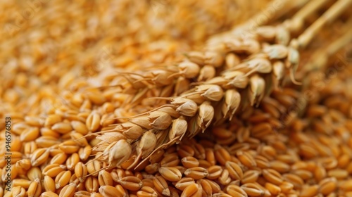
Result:
[[[189,53],[187,60],[171,67],[161,67],[158,72],[151,71],[146,75],[125,73],[133,88],[144,89],[149,84],[168,86],[173,82],[170,78],[175,76],[203,79],[201,76],[206,73],[201,70],[206,67],[201,66],[210,65],[216,69],[224,65],[224,61],[226,65],[218,76],[212,74],[205,77],[205,81],[197,82],[196,87],[180,96],[156,97],[170,103],[146,113],[125,117],[128,122],[112,125],[115,128],[111,130],[103,130],[99,136],[102,141],[94,147],[94,151],[100,153],[96,159],[108,162],[108,167],[115,167],[136,154],[137,158],[129,168],[136,167],[140,159],[147,160],[160,148],[178,144],[185,136],[191,138],[204,132],[211,124],[231,120],[236,113],[249,106],[258,106],[272,91],[272,83],[280,87],[287,71],[292,82],[298,84],[294,79],[299,62],[298,50],[307,46],[322,26],[337,18],[349,4],[351,1],[337,1],[297,39],[290,39],[292,30],[288,27],[297,20],[302,23],[309,15],[307,11],[310,8],[318,9],[322,4],[316,6],[310,2],[291,22],[287,20],[284,25],[257,27],[247,39],[241,38],[241,30],[231,32],[230,36],[210,42],[208,46],[215,51]],[[208,67],[206,69],[210,70]],[[164,81],[153,80],[148,75]],[[143,96],[145,94],[138,98]]]

